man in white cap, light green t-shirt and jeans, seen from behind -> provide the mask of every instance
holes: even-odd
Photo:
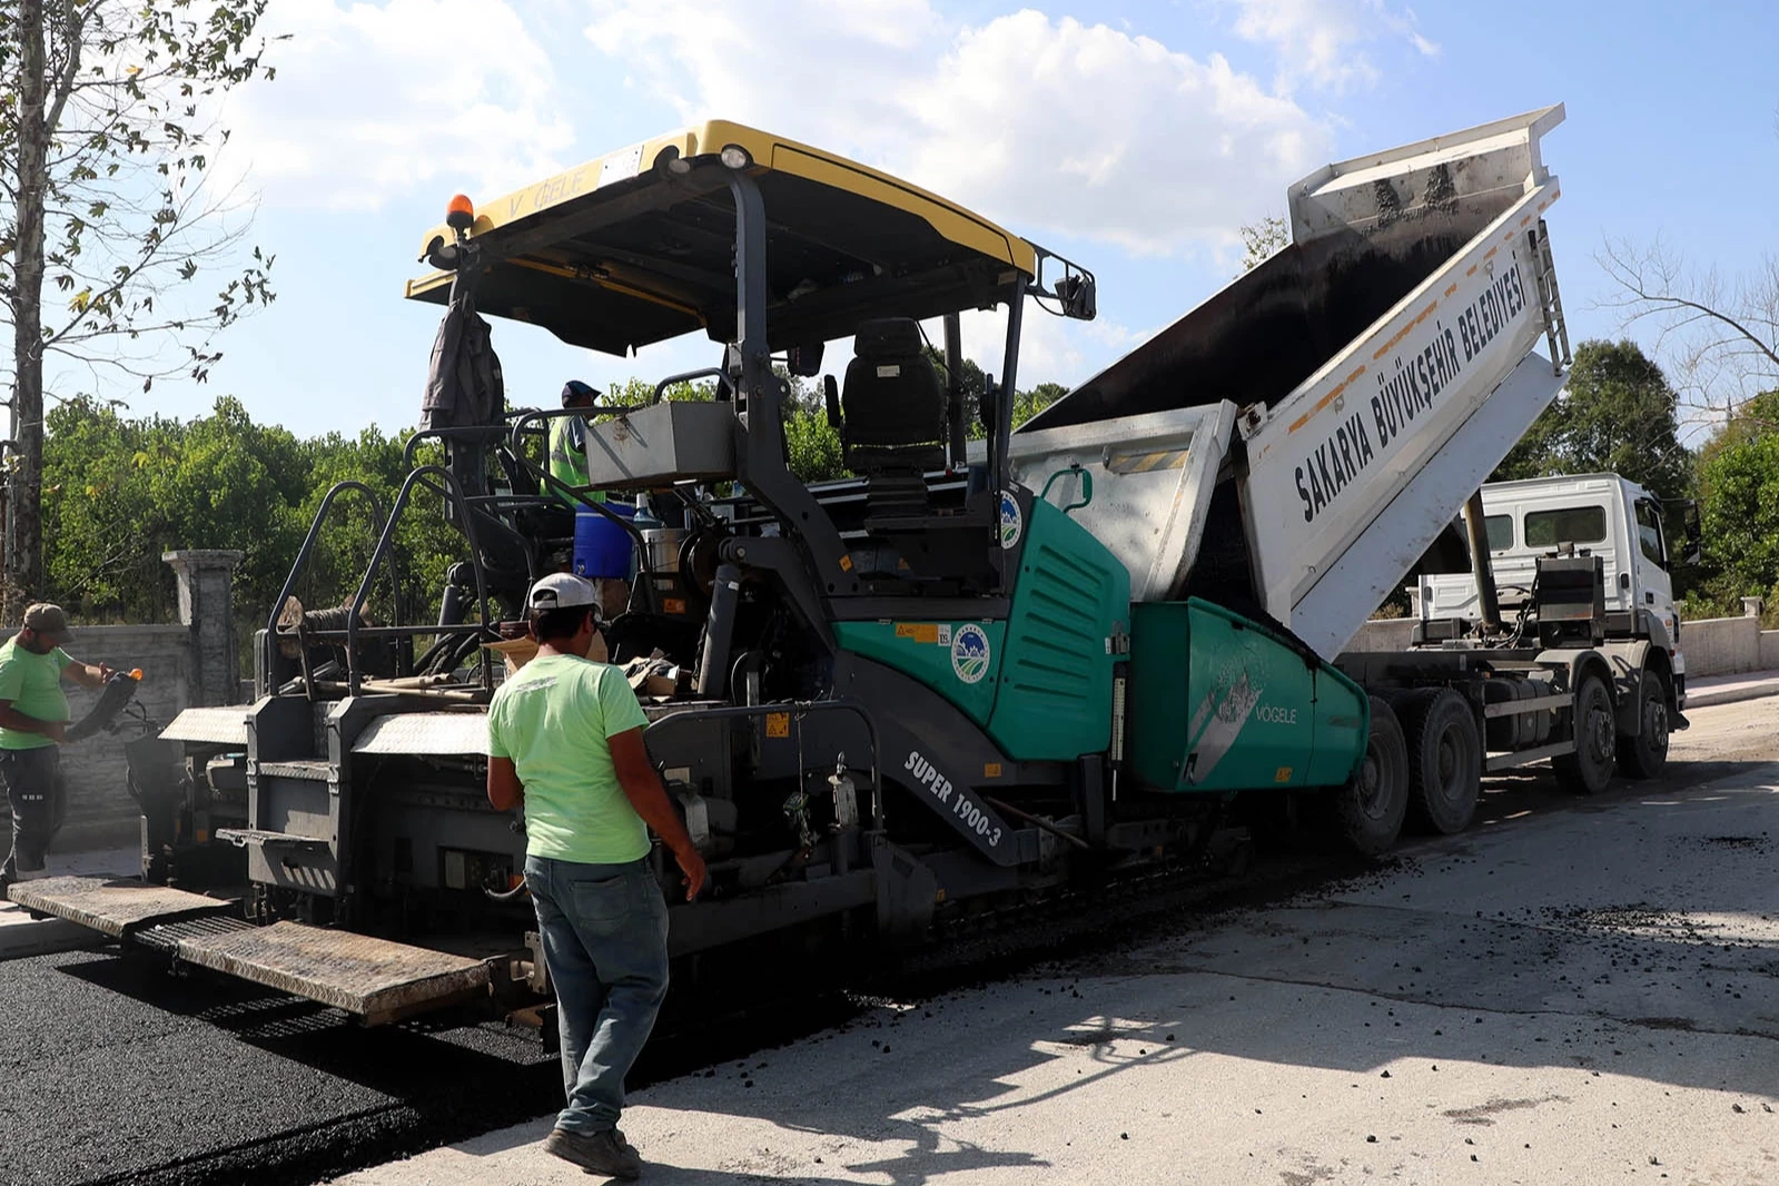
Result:
[[[630,683],[587,660],[594,601],[569,573],[532,585],[537,658],[487,708],[487,802],[525,807],[525,885],[557,994],[568,1106],[544,1149],[632,1179],[642,1159],[617,1131],[624,1076],[667,996],[667,903],[648,829],[680,862],[687,902],[704,859],[649,765]]]

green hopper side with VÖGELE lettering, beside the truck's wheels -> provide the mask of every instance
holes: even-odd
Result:
[[[1336,786],[1364,752],[1364,692],[1210,601],[1133,606],[1130,757],[1163,791]]]

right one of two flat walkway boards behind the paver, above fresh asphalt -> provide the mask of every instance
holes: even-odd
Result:
[[[482,960],[302,923],[181,939],[178,957],[377,1024],[487,992]]]

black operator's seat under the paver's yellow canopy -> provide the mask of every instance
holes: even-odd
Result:
[[[922,352],[920,322],[859,325],[841,389],[841,441],[854,473],[945,466],[945,386]]]

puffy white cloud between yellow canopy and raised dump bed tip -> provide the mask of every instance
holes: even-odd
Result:
[[[916,178],[1019,226],[1133,251],[1224,238],[1327,130],[1220,55],[1041,12],[966,28],[906,107]]]

